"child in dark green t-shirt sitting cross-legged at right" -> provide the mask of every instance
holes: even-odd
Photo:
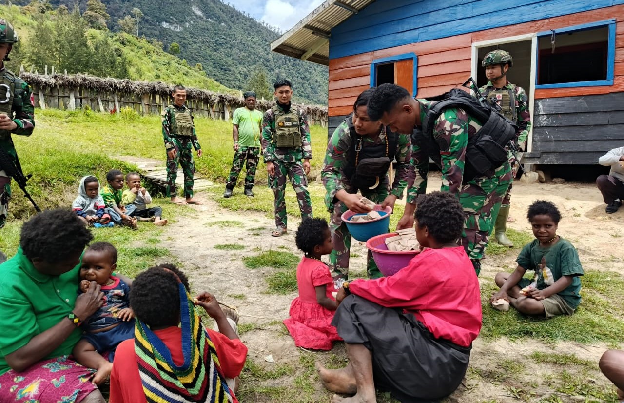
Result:
[[[551,202],[539,200],[529,207],[527,217],[536,239],[522,249],[513,273],[494,277],[500,291],[490,302],[504,299],[525,315],[572,315],[581,302],[578,277],[583,267],[575,247],[557,235],[561,214]],[[535,271],[534,283],[522,277],[527,270]]]

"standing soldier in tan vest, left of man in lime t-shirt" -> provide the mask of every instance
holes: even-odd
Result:
[[[193,163],[193,148],[197,150],[197,156],[202,156],[202,146],[197,140],[193,114],[185,105],[187,101],[187,89],[183,86],[173,87],[171,93],[173,105],[168,105],[162,111],[162,137],[167,149],[167,196],[171,202],[183,206],[184,204],[202,204],[193,199],[193,176],[195,164]],[[182,166],[184,174],[184,197],[177,196],[175,179],[178,176],[178,164]]]

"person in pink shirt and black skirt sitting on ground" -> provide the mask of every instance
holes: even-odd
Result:
[[[414,213],[422,251],[394,276],[345,282],[332,324],[346,343],[343,369],[316,368],[332,402],[376,402],[375,389],[401,402],[437,400],[461,383],[481,329],[479,281],[457,239],[459,200],[419,198]]]

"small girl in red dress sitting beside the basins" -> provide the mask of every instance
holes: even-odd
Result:
[[[290,304],[290,317],[284,321],[295,346],[306,349],[331,350],[341,340],[331,326],[338,307],[331,292],[334,282],[329,267],[321,256],[331,253],[333,244],[327,221],[306,218],[301,222],[295,243],[305,254],[297,266],[299,296]]]

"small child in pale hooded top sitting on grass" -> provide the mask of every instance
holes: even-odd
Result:
[[[112,226],[110,216],[105,211],[104,199],[100,196],[100,182],[95,176],[88,175],[80,179],[78,197],[74,199],[72,211],[85,225]]]

